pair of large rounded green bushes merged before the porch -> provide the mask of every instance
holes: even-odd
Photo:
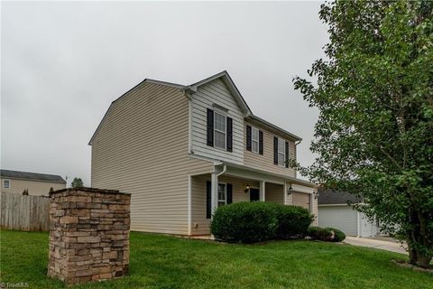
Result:
[[[210,231],[229,243],[254,243],[270,239],[304,238],[313,216],[301,207],[271,202],[236,202],[219,207]]]

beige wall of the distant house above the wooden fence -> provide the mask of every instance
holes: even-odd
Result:
[[[3,187],[3,180],[10,181],[10,188]],[[54,191],[66,188],[65,183],[59,182],[43,182],[35,180],[22,180],[11,178],[0,178],[1,191],[23,194],[24,190],[29,190],[29,195],[32,196],[48,196],[48,192],[52,188]]]

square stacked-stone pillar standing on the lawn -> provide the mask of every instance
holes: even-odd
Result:
[[[128,273],[130,194],[74,188],[50,197],[49,276],[75,284]]]

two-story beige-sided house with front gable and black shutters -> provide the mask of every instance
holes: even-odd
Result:
[[[111,104],[90,139],[91,183],[132,193],[138,231],[207,235],[217,207],[236,201],[295,204],[317,216],[316,186],[288,164],[300,140],[254,116],[226,71],[189,86],[144,79]]]

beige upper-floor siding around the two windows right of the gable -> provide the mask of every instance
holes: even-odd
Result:
[[[244,135],[246,135],[246,126],[253,126],[252,124],[245,122]],[[289,142],[289,157],[294,159],[295,143],[285,139],[281,135],[275,135],[260,126],[253,126],[263,131],[263,154],[256,154],[246,150],[246,136],[244,137],[244,165],[250,166],[266,172],[280,173],[295,177],[295,170],[292,168],[286,168],[281,165],[273,164],[273,137],[277,136]]]

